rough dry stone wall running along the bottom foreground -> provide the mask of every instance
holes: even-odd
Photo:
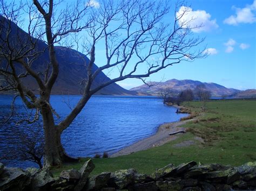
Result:
[[[203,165],[195,161],[158,169],[151,175],[134,169],[91,176],[92,161],[77,171],[53,178],[47,170],[8,168],[0,164],[0,190],[235,190],[256,189],[256,161],[239,167]]]

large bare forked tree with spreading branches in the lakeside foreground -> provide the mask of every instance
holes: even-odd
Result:
[[[75,4],[71,1],[66,10],[61,11],[57,10],[58,3],[54,4],[53,0],[16,4],[1,2],[1,91],[15,91],[27,108],[35,110],[35,120],[38,120],[39,115],[42,116],[45,167],[72,160],[65,153],[60,135],[97,91],[128,78],[145,81],[145,77],[166,67],[205,56],[204,48],[198,48],[204,39],[191,35],[191,20],[181,19],[189,9],[178,13],[183,3],[174,6],[173,19],[168,15],[168,2],[107,0],[99,4],[91,1],[78,1]],[[21,26],[20,18],[24,15],[28,16],[29,22],[24,22],[22,29],[26,28],[29,35],[18,28],[14,31],[13,28],[12,22]],[[79,37],[85,37],[84,44],[79,41]],[[40,48],[40,40],[45,41],[47,48]],[[58,124],[54,118],[58,114],[50,104],[52,87],[59,74],[56,44],[69,47],[82,44],[85,54],[90,58],[89,62],[81,63],[87,68],[83,96]],[[103,44],[105,63],[93,70],[96,49],[102,48]],[[48,54],[49,59],[40,60],[42,54]],[[41,72],[34,69],[35,65],[40,65]],[[100,72],[113,68],[119,71],[119,75],[96,87],[92,86]],[[23,81],[26,77],[38,84],[39,96],[36,96],[35,90],[26,86]]]

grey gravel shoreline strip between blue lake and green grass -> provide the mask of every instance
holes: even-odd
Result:
[[[172,105],[172,106],[175,108],[178,108],[178,109],[183,108],[182,106],[178,106],[178,105]],[[178,137],[180,137],[181,134],[170,136],[169,133],[172,133],[172,132],[175,132],[178,130],[184,131],[186,128],[182,128],[182,127],[178,128],[178,126],[184,125],[187,122],[190,122],[193,120],[194,120],[194,118],[187,119],[185,121],[176,121],[176,122],[161,124],[158,127],[157,132],[154,133],[153,135],[151,135],[150,137],[144,138],[142,140],[139,140],[136,143],[133,143],[130,146],[124,147],[122,150],[111,154],[110,157],[111,158],[119,157],[122,155],[127,155],[127,154],[131,154],[134,152],[147,150],[148,148],[155,147],[155,146],[161,146],[165,143],[171,142],[172,140],[175,140]]]

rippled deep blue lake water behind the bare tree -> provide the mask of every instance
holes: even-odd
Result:
[[[61,121],[69,114],[80,96],[53,95],[52,107],[59,114]],[[11,95],[0,95],[0,121],[9,115]],[[17,116],[28,112],[21,100],[16,101],[16,117],[8,125],[0,124],[0,155],[6,149],[6,139],[15,130]],[[85,157],[103,152],[112,154],[140,139],[156,133],[160,124],[178,121],[186,114],[176,114],[177,108],[167,107],[157,97],[143,96],[93,96],[80,112],[75,121],[63,132],[62,142],[68,154]],[[56,122],[56,123],[57,123]],[[34,124],[21,124],[18,128]],[[12,166],[30,166],[23,162]],[[33,165],[35,166],[35,165]]]

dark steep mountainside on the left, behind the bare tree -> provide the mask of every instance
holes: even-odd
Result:
[[[8,29],[9,21],[0,16],[0,28],[2,26],[1,38],[6,38],[6,32],[4,32],[5,27]],[[33,62],[31,68],[35,70],[37,73],[44,74],[45,69],[49,63],[49,54],[47,45],[42,41],[35,38],[31,38],[28,33],[19,28],[15,23],[10,23],[11,33],[10,33],[10,45],[15,46],[17,48],[21,48],[24,45],[29,44],[29,40],[31,39],[33,43],[36,43],[35,49],[37,51],[45,51]],[[1,40],[0,40],[1,41]],[[18,42],[18,43],[17,43]],[[2,42],[1,42],[2,43]],[[29,45],[28,45],[29,46]],[[56,46],[56,57],[59,63],[59,75],[58,79],[53,86],[52,94],[81,94],[82,93],[82,82],[86,79],[87,70],[86,63],[89,63],[89,59],[82,53],[75,51],[74,49]],[[85,64],[84,64],[85,63]],[[6,62],[5,62],[6,65]],[[0,63],[0,68],[4,68],[4,63]],[[16,65],[17,73],[23,73],[24,69]],[[93,71],[95,71],[98,67],[94,64]],[[43,75],[42,75],[43,78]],[[109,77],[107,77],[103,72],[100,72],[96,77],[95,81],[92,84],[92,87],[96,87],[98,84],[109,81]],[[23,83],[30,87],[35,93],[38,93],[38,86],[31,76],[24,77],[22,79]],[[1,76],[0,76],[1,83]],[[1,85],[1,84],[0,84]],[[120,87],[116,83],[112,83],[109,86],[99,90],[96,94],[98,95],[138,95],[136,91],[129,91],[122,87]]]

